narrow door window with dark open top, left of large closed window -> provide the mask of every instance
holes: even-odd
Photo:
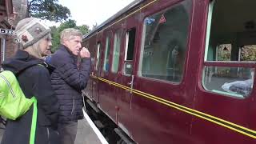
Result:
[[[136,29],[132,28],[126,32],[126,53],[124,62],[124,74],[130,75],[133,71],[134,46]]]

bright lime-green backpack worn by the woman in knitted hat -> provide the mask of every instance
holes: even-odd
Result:
[[[33,116],[30,130],[30,144],[34,144],[36,122],[37,122],[37,100],[36,98],[26,98],[19,86],[15,75],[9,70],[0,73],[0,115],[15,120],[25,114],[31,105],[33,106]]]

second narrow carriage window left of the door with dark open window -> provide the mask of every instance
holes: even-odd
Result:
[[[103,70],[108,71],[109,68],[110,68],[110,34],[107,34]]]

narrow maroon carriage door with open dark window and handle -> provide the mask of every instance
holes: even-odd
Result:
[[[134,82],[134,52],[135,52],[135,35],[136,28],[130,28],[124,32],[123,35],[123,47],[122,47],[122,72],[119,83],[122,86],[133,88]],[[123,87],[120,90],[120,95],[118,95],[118,126],[130,135],[131,123],[131,99],[132,93]]]

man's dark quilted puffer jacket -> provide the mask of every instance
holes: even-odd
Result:
[[[86,88],[90,76],[90,58],[82,59],[78,66],[78,57],[66,46],[60,46],[51,56],[50,64],[56,68],[51,74],[51,84],[60,105],[58,122],[84,118],[82,90]]]

